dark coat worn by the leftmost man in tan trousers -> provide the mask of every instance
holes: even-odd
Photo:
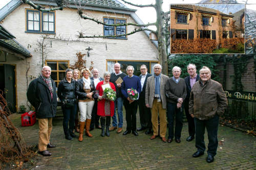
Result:
[[[55,82],[51,79],[53,86],[53,96],[48,85],[41,77],[33,80],[29,84],[27,91],[28,101],[36,109],[36,118],[51,118],[56,115],[57,94]]]

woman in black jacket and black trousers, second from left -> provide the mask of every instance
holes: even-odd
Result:
[[[73,70],[66,69],[66,77],[61,80],[58,85],[58,98],[62,105],[61,109],[63,112],[63,130],[65,138],[68,140],[74,140],[72,137],[78,137],[73,133],[75,114],[76,114],[76,95],[75,95],[75,84],[76,82],[72,79]],[[69,124],[69,127],[68,127]]]

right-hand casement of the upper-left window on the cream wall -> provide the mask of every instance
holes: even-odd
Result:
[[[54,33],[55,30],[55,17],[54,12],[42,13],[42,32]]]

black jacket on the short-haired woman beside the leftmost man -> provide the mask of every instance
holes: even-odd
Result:
[[[61,102],[63,102],[66,98],[69,101],[76,99],[75,95],[75,88],[76,88],[76,81],[73,79],[71,80],[71,83],[69,83],[66,78],[61,80],[58,85],[58,98]]]

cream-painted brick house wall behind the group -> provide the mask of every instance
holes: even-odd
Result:
[[[31,8],[29,5],[21,5],[11,14],[9,14],[2,22],[3,26],[12,33],[16,40],[27,47],[33,57],[18,60],[16,57],[8,57],[7,62],[0,62],[2,64],[16,64],[16,77],[17,77],[17,103],[19,105],[26,105],[27,98],[27,80],[26,71],[28,65],[30,69],[28,71],[29,82],[38,77],[41,69],[41,54],[36,45],[37,41],[41,41],[41,36],[44,34],[37,33],[25,33],[26,29],[26,9]],[[126,18],[127,22],[135,22],[129,15],[86,11],[86,14],[90,17],[103,20],[103,16]],[[128,26],[127,32],[133,31],[134,26]],[[97,25],[97,23],[81,19],[77,10],[75,9],[63,9],[62,11],[56,11],[56,36],[65,39],[77,39],[78,31],[83,30],[85,35],[102,35],[103,26]],[[103,76],[103,72],[106,70],[106,59],[118,59],[118,60],[152,60],[158,61],[157,47],[147,38],[143,32],[127,37],[127,40],[123,39],[103,39],[103,38],[83,38],[78,41],[62,41],[62,40],[50,40],[46,42],[49,44],[47,52],[47,60],[70,60],[70,65],[73,65],[76,61],[76,53],[87,53],[85,50],[90,46],[93,48],[90,51],[90,58],[86,57],[87,66],[91,65],[91,61],[94,62],[94,68],[98,68],[100,76]],[[52,45],[50,45],[52,44]],[[38,51],[36,51],[36,49]]]

